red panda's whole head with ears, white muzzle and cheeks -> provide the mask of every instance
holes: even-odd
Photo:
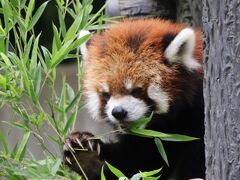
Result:
[[[166,21],[118,23],[92,37],[84,53],[87,107],[116,124],[167,113],[181,96],[191,103],[201,79],[201,34]]]

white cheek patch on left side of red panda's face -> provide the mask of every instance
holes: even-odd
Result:
[[[95,91],[89,91],[86,92],[86,100],[87,100],[87,108],[90,113],[90,115],[95,119],[95,120],[100,120],[100,99],[98,96],[98,93]]]

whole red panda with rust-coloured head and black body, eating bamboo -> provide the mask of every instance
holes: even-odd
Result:
[[[94,119],[128,127],[154,112],[145,128],[200,140],[163,142],[167,167],[151,139],[122,134],[117,142],[103,143],[87,141],[90,133],[75,132],[64,145],[70,168],[80,173],[69,147],[83,143],[91,149],[88,156],[75,153],[90,179],[99,179],[105,161],[129,177],[164,166],[162,179],[204,178],[200,31],[159,19],[124,20],[94,35],[84,49],[84,59],[87,107]]]

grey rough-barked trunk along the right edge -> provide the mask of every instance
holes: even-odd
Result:
[[[204,0],[206,179],[240,179],[240,1]]]

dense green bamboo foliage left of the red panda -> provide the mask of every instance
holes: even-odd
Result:
[[[35,25],[45,13],[49,1],[39,7],[35,0],[0,1],[0,106],[9,106],[16,115],[5,121],[23,132],[22,140],[9,147],[6,135],[0,131],[0,177],[9,179],[81,179],[69,172],[62,163],[61,149],[66,135],[73,128],[82,95],[82,68],[79,46],[90,35],[78,37],[81,29],[95,29],[106,20],[102,7],[92,14],[92,0],[55,0],[57,25],[52,23],[51,48],[41,45],[41,33]],[[52,2],[51,2],[52,3]],[[66,18],[71,24],[66,24]],[[51,38],[51,37],[50,37]],[[77,60],[78,88],[76,91],[62,80],[60,95],[56,92],[57,67],[63,60]],[[43,90],[49,89],[46,97]],[[40,101],[45,97],[44,101]],[[49,113],[50,109],[50,113]],[[46,124],[55,134],[44,131]],[[44,160],[37,160],[28,151],[30,138],[38,141]],[[51,152],[48,143],[59,147]]]

